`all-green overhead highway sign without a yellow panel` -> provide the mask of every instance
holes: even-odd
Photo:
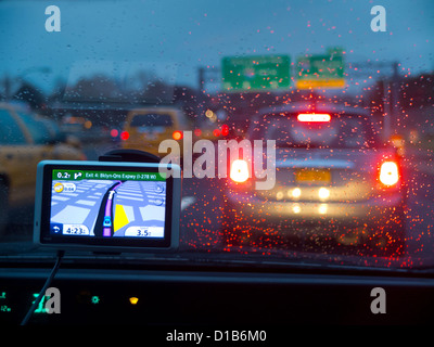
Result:
[[[268,91],[291,85],[288,55],[227,56],[221,62],[225,91]]]

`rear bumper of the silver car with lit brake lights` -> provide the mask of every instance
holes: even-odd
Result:
[[[291,230],[302,226],[340,228],[384,226],[403,214],[400,193],[375,197],[363,202],[270,202],[237,194],[226,196],[227,218],[240,227],[280,226]],[[282,228],[283,227],[283,228]],[[327,232],[328,228],[322,228]]]

